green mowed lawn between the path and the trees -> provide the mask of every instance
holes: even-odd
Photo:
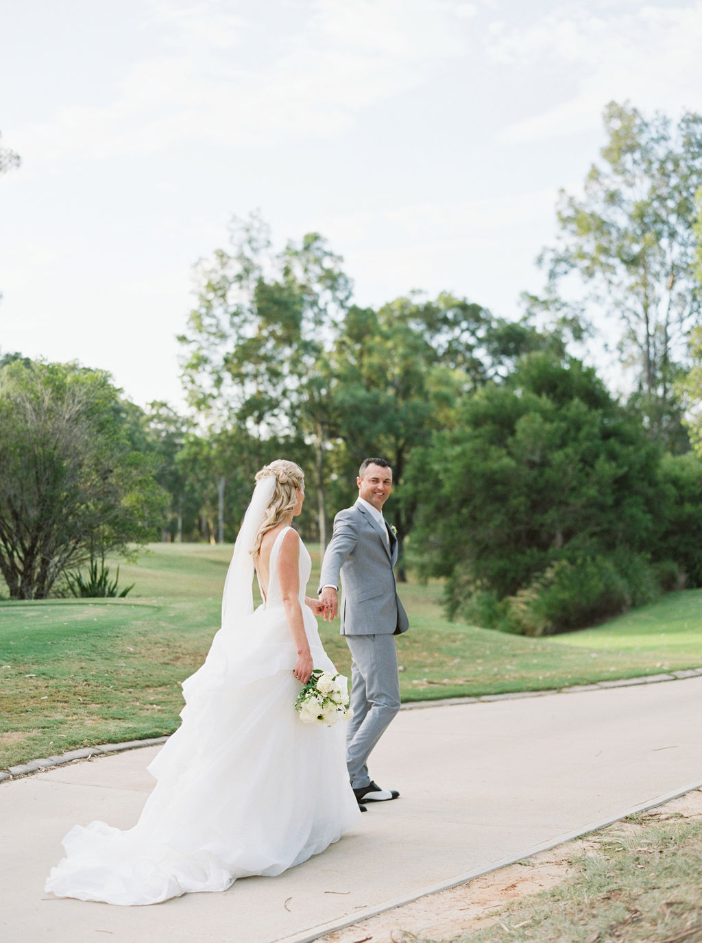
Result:
[[[314,594],[319,550],[310,548]],[[81,746],[161,736],[178,724],[180,682],[219,627],[231,546],[153,544],[120,565],[125,600],[0,603],[0,769]],[[113,564],[113,572],[116,564]],[[450,622],[442,587],[400,587],[403,700],[544,690],[702,666],[702,590],[666,597],[594,629],[523,638]],[[326,650],[350,670],[339,623]]]

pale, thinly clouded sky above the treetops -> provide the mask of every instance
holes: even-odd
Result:
[[[0,0],[0,351],[181,405],[192,265],[259,209],[355,300],[497,315],[612,99],[702,111],[702,0]]]

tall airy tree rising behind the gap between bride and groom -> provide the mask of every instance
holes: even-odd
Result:
[[[351,282],[316,233],[275,253],[268,227],[252,214],[233,221],[230,242],[231,251],[197,267],[197,304],[179,338],[188,352],[185,389],[215,427],[238,426],[261,440],[305,435],[324,542],[326,454],[335,432],[325,356]]]

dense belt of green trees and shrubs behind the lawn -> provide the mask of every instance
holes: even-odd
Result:
[[[30,547],[36,560],[75,547],[52,564],[59,588],[61,566],[127,543],[233,539],[254,473],[282,455],[307,472],[301,526],[322,543],[362,458],[387,457],[400,579],[408,566],[442,577],[450,611],[482,625],[557,632],[702,586],[702,118],[671,129],[611,104],[605,125],[583,195],[560,196],[544,296],[517,322],[448,293],[359,307],[319,234],[276,252],[252,215],[196,268],[180,337],[187,415],[125,403],[99,372],[6,357],[0,568],[12,595],[51,590],[27,588],[41,569]],[[621,327],[627,397],[577,357],[597,342],[591,311]],[[92,391],[75,412],[92,442],[79,458],[58,435],[68,389]],[[56,422],[37,444],[26,404],[52,397]],[[39,455],[53,490],[25,475],[20,501],[19,470]],[[18,521],[42,521],[59,494],[80,515],[58,515],[63,529],[37,551]]]

